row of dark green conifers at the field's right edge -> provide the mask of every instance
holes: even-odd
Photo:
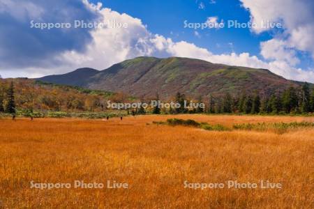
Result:
[[[185,100],[184,95],[177,94],[176,101]],[[200,98],[197,102],[202,102]],[[176,109],[175,113],[209,114],[307,114],[314,111],[314,88],[305,83],[301,88],[290,86],[283,93],[273,93],[270,96],[254,93],[240,95],[225,95],[220,98],[209,95],[205,109]]]

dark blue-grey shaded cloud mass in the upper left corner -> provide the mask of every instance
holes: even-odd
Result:
[[[92,21],[98,14],[81,0],[0,0],[0,68],[51,67],[66,49],[84,51],[91,42],[88,29],[31,29],[34,22]]]

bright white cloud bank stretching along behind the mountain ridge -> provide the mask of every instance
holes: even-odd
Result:
[[[313,77],[311,78],[313,72],[294,68],[290,65],[298,62],[297,59],[294,59],[294,51],[284,47],[283,42],[278,40],[271,40],[262,44],[262,53],[264,53],[265,58],[270,59],[270,62],[262,61],[257,56],[251,56],[248,53],[213,54],[208,49],[197,47],[190,42],[174,42],[171,38],[152,34],[147,31],[140,20],[129,15],[119,14],[107,8],[100,8],[99,12],[103,14],[104,18],[110,17],[119,22],[127,22],[128,29],[98,29],[93,31],[94,43],[89,45],[86,54],[67,52],[65,57],[75,60],[75,63],[81,61],[80,65],[96,68],[103,66],[104,68],[135,56],[183,56],[203,59],[212,63],[265,68],[287,79],[314,81]],[[211,20],[217,21],[218,18]],[[271,48],[271,46],[274,47]],[[72,53],[73,57],[69,53]],[[291,59],[286,57],[286,54],[290,54]],[[89,60],[84,61],[80,56],[88,57]]]

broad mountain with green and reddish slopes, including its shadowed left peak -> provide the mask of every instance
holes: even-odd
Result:
[[[282,92],[300,82],[287,80],[269,70],[214,64],[199,59],[137,57],[97,71],[82,68],[65,75],[39,78],[44,82],[124,92],[136,97],[170,98],[177,92],[198,96],[259,91],[262,95]]]

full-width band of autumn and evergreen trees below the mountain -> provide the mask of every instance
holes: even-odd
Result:
[[[31,81],[6,82],[0,85],[0,112],[15,114],[16,109],[52,110],[52,111],[103,111],[107,100],[124,102],[130,100],[123,93],[110,97],[92,93],[80,93],[73,88],[55,86],[34,86]],[[144,100],[143,98],[141,99]],[[157,94],[154,100],[160,100]],[[177,93],[172,99],[180,104],[178,108],[154,107],[152,109],[128,109],[129,114],[307,114],[314,111],[314,88],[305,83],[300,88],[290,86],[282,93],[261,95],[240,93],[239,95],[213,96],[205,100],[199,97],[193,102],[205,103],[205,108],[186,108],[186,95]]]

